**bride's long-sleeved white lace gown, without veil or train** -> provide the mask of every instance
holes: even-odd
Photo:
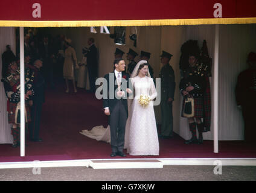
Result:
[[[133,156],[158,156],[159,141],[156,128],[155,112],[153,108],[153,99],[157,93],[152,78],[135,77],[131,78],[135,98],[131,106],[131,113],[127,126],[129,127],[129,137],[127,139],[127,153]],[[147,95],[150,98],[150,104],[142,107],[139,104],[140,95]]]

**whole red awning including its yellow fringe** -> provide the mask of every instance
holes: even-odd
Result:
[[[0,10],[0,26],[256,23],[255,0],[8,0]]]

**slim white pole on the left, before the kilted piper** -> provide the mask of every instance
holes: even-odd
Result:
[[[24,77],[24,27],[19,28],[21,57],[21,157],[25,156],[25,77]]]

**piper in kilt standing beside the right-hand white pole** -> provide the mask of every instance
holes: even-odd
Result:
[[[210,82],[209,78],[199,71],[198,55],[190,54],[188,63],[189,67],[184,70],[184,78],[179,84],[179,90],[184,96],[182,105],[182,117],[184,117],[185,100],[190,97],[194,100],[194,116],[188,118],[192,138],[185,141],[185,144],[202,144],[205,127],[209,124],[208,116],[210,115]],[[193,108],[193,107],[192,107]],[[204,120],[204,121],[202,121]],[[210,125],[208,125],[210,128]],[[207,127],[208,127],[207,126]],[[199,132],[197,140],[196,127]]]

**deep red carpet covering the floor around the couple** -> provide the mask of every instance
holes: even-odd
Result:
[[[25,157],[19,157],[19,148],[0,145],[0,162],[33,160],[110,159],[111,148],[106,142],[86,138],[79,133],[95,125],[107,125],[102,101],[94,93],[78,89],[65,93],[64,86],[46,92],[43,104],[40,137],[43,142],[30,142]],[[213,153],[213,141],[203,145],[185,145],[184,139],[159,139],[159,156],[130,156],[126,158],[247,158],[256,157],[256,144],[243,141],[220,141],[219,153]],[[115,157],[121,158],[121,157]]]

